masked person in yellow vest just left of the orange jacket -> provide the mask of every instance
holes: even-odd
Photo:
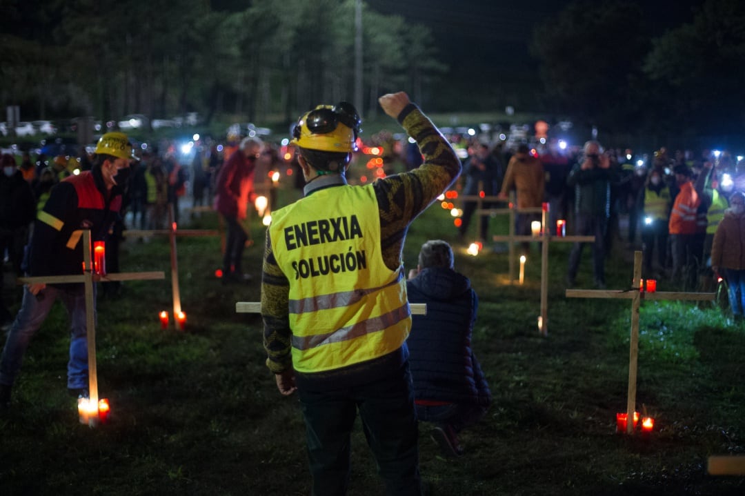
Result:
[[[653,169],[647,177],[647,184],[641,189],[639,204],[643,206],[641,215],[641,243],[644,252],[644,273],[653,274],[654,251],[657,251],[657,270],[667,266],[668,255],[668,217],[672,206],[670,188],[662,179],[662,171]],[[658,273],[659,274],[659,273]]]

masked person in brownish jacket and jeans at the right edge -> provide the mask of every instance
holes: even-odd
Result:
[[[743,322],[745,309],[745,193],[729,198],[729,208],[714,233],[711,269],[724,277],[729,287],[729,308],[735,322]]]

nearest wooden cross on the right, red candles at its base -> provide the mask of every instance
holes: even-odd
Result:
[[[567,298],[611,298],[631,300],[631,343],[629,351],[629,390],[626,404],[627,419],[633,419],[636,407],[636,372],[639,356],[639,306],[642,299],[712,301],[716,293],[680,293],[661,291],[647,293],[641,286],[641,252],[634,252],[634,278],[631,290],[566,290]],[[633,432],[634,423],[627,422],[627,433]]]

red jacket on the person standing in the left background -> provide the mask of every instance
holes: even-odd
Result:
[[[215,182],[215,210],[226,217],[245,219],[253,192],[253,170],[256,159],[247,158],[243,150],[233,153],[220,168]]]

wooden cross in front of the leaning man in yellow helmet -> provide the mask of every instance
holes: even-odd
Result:
[[[82,282],[85,285],[86,295],[86,334],[88,336],[88,392],[90,404],[98,404],[98,372],[95,360],[95,315],[93,310],[93,283],[112,281],[135,281],[146,279],[165,279],[162,272],[124,272],[115,274],[93,273],[91,263],[91,233],[88,229],[83,231],[83,274],[70,276],[38,276],[20,277],[22,284],[60,284],[63,282]]]

